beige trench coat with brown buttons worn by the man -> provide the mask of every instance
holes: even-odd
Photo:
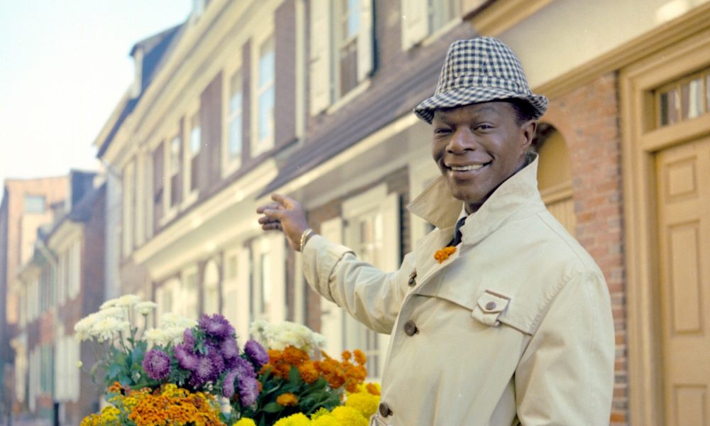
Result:
[[[614,331],[591,256],[547,212],[537,159],[498,187],[452,239],[461,202],[439,178],[410,204],[437,229],[395,273],[313,236],[308,283],[391,334],[372,425],[608,425]]]

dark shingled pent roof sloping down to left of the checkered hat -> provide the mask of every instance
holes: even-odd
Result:
[[[359,141],[382,129],[412,109],[422,99],[434,92],[445,51],[431,55],[419,67],[410,67],[393,78],[388,90],[369,89],[356,100],[359,109],[352,114],[340,114],[319,135],[312,138],[300,150],[295,151],[280,165],[279,174],[261,192],[268,195],[307,171],[325,163],[338,153],[356,145]],[[380,85],[384,85],[380,82]]]

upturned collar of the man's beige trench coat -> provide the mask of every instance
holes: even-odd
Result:
[[[540,200],[537,192],[537,154],[529,153],[526,162],[522,170],[503,182],[481,208],[466,219],[466,224],[461,227],[464,244],[474,244],[490,234],[518,212],[531,197]],[[443,230],[456,224],[462,206],[461,200],[452,196],[444,177],[439,176],[407,208]]]

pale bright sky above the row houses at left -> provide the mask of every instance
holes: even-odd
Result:
[[[98,170],[93,142],[133,81],[131,48],[191,8],[192,0],[0,0],[0,182]]]

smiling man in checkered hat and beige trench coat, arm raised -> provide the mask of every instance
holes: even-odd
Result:
[[[395,273],[313,234],[288,197],[258,208],[302,251],[314,290],[392,335],[371,425],[608,425],[608,289],[537,191],[545,109],[500,40],[451,45],[415,108],[442,176],[409,209],[437,227]]]

